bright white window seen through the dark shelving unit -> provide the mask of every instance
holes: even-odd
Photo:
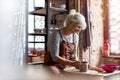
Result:
[[[33,11],[34,7],[45,7],[44,0],[29,0],[29,7],[28,11]],[[28,33],[34,33],[34,29],[37,28],[44,28],[45,26],[45,17],[44,16],[37,16],[37,15],[28,15]],[[28,48],[40,48],[41,50],[44,49],[45,45],[44,42],[45,37],[44,36],[28,36]],[[36,43],[34,43],[36,42]]]

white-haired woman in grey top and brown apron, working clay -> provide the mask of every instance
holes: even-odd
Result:
[[[86,29],[82,14],[71,10],[64,22],[64,27],[51,33],[48,39],[45,63],[59,74],[66,66],[80,69],[81,62],[77,58],[78,32]]]

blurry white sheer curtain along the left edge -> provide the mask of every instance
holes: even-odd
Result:
[[[0,65],[23,64],[26,0],[0,0]]]

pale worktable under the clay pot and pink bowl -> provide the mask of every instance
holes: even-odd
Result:
[[[120,80],[120,71],[113,73],[99,73],[89,70],[88,72],[80,72],[78,70],[65,70],[65,80]]]

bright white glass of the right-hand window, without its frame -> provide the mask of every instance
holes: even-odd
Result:
[[[120,54],[120,0],[109,0],[111,52]]]

